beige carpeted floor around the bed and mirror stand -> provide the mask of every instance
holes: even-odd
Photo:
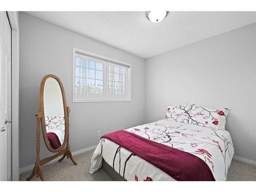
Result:
[[[78,165],[74,165],[70,159],[56,162],[42,167],[47,181],[113,181],[113,179],[99,169],[93,175],[89,174],[93,151],[74,156]],[[20,181],[26,181],[31,172],[20,175]],[[39,181],[33,178],[32,181]],[[232,160],[227,174],[228,181],[256,181],[256,167]]]

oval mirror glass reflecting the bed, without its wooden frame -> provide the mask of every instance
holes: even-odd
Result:
[[[59,83],[52,77],[45,82],[44,112],[47,137],[52,148],[56,150],[65,138],[65,118]]]

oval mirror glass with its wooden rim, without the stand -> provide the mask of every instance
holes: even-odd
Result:
[[[60,151],[65,146],[67,125],[67,105],[61,81],[55,75],[47,75],[41,82],[40,104],[42,110],[42,133],[47,148],[51,152]]]

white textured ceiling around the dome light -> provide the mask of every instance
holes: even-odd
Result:
[[[256,12],[169,12],[160,23],[145,12],[26,12],[143,58],[256,22]]]

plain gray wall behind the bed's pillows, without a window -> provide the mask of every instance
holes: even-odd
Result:
[[[256,160],[256,24],[146,59],[147,122],[167,104],[229,108],[235,154]]]

